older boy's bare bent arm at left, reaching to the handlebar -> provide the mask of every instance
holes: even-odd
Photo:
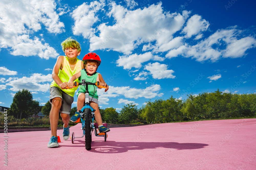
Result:
[[[60,86],[61,89],[66,89],[68,83],[67,82],[63,83],[60,80],[60,77],[58,76],[59,70],[62,69],[62,67],[63,67],[63,62],[64,62],[64,56],[59,56],[57,58],[57,61],[56,61],[55,65],[54,65],[54,68],[52,70],[52,74],[51,75],[52,75],[52,79],[55,81],[55,83],[58,86]]]

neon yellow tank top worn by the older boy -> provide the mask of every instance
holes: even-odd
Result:
[[[59,76],[59,78],[62,82],[68,82],[69,78],[71,76],[73,76],[74,74],[78,73],[81,70],[82,70],[81,60],[79,60],[77,58],[76,66],[75,66],[74,70],[71,70],[70,66],[69,66],[69,63],[68,63],[68,57],[64,56],[63,68],[62,68],[62,70],[59,70],[58,76]],[[78,81],[78,79],[76,79],[75,81]],[[57,83],[55,83],[55,81],[52,81],[52,83],[50,85],[50,87],[53,87],[53,86],[58,87],[59,89],[61,89],[60,86],[58,86]],[[73,97],[77,88],[78,87],[72,88],[72,89],[61,89],[61,90]]]

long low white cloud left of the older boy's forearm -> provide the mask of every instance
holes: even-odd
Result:
[[[42,91],[46,92],[50,88],[50,83],[44,82],[51,82],[52,77],[51,74],[43,75],[39,73],[34,73],[30,77],[22,77],[20,79],[14,79],[7,83],[6,85],[12,86],[10,90],[18,91],[24,89],[28,89],[29,91]],[[43,83],[43,84],[40,84]]]

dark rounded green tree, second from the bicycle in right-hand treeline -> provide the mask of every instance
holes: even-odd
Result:
[[[138,110],[137,106],[132,103],[126,104],[119,114],[119,120],[121,123],[129,124],[132,123],[132,120],[137,119]]]

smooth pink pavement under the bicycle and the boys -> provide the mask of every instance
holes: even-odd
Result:
[[[70,133],[82,136],[80,128],[70,127]],[[89,151],[84,137],[64,141],[63,130],[57,131],[58,148],[47,148],[50,131],[1,133],[0,169],[256,169],[256,119],[110,129],[106,142],[92,136]]]

